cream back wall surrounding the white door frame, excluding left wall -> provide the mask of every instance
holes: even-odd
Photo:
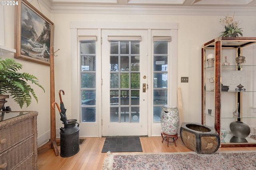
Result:
[[[219,36],[219,32],[222,32],[219,20],[223,17],[52,14],[52,21],[55,24],[54,46],[60,49],[58,52],[60,57],[55,58],[55,73],[70,75],[69,24],[71,21],[109,22],[109,24],[111,22],[178,22],[178,87],[182,90],[184,122],[201,123],[201,45]],[[236,16],[236,20],[240,19],[243,20],[241,27],[244,28],[244,37],[253,36],[250,22],[255,22],[254,17]],[[180,83],[180,77],[186,76],[189,77],[189,83]],[[62,77],[56,77],[55,85],[56,89],[64,88],[65,92],[71,91],[70,83],[63,84]],[[71,94],[67,93],[65,99],[68,95]],[[70,105],[68,107],[71,109]],[[67,114],[71,115],[71,113]]]

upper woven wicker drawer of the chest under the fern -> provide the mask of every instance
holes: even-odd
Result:
[[[18,142],[33,135],[33,118],[0,129],[0,153],[8,150]]]

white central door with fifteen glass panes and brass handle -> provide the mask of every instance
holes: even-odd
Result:
[[[102,136],[148,134],[147,43],[145,30],[102,30]]]

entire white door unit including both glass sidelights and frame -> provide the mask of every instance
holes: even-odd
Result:
[[[72,119],[80,136],[160,136],[161,107],[177,99],[178,24],[70,26]]]

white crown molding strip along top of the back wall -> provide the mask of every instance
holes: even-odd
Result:
[[[226,15],[256,16],[254,7],[180,7],[180,6],[102,6],[102,5],[54,5],[51,13],[65,14],[144,14],[144,15]]]

